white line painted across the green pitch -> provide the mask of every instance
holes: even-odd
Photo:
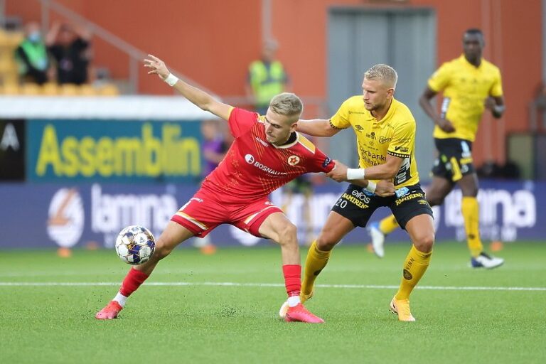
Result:
[[[119,282],[0,282],[0,287],[99,287],[119,286]],[[279,283],[236,283],[236,282],[146,282],[146,286],[156,287],[284,287]],[[319,288],[347,289],[398,289],[398,286],[381,286],[373,284],[317,284]],[[546,291],[546,287],[445,287],[417,286],[417,289],[432,289],[437,291]]]

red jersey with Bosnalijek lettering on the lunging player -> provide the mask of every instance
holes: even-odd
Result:
[[[333,169],[331,159],[299,133],[287,145],[267,142],[263,117],[255,112],[232,109],[228,123],[235,141],[202,185],[226,200],[264,198],[301,174]]]

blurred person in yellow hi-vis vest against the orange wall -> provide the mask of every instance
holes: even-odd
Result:
[[[260,115],[265,115],[274,95],[289,88],[287,73],[282,63],[275,60],[276,52],[277,42],[267,41],[262,49],[262,58],[250,63],[248,68],[245,91]]]

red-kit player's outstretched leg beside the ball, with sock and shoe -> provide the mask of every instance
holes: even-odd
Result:
[[[125,306],[127,297],[136,291],[142,283],[154,271],[157,263],[169,255],[173,249],[181,242],[193,236],[193,232],[184,228],[173,221],[169,221],[164,232],[161,233],[159,239],[156,240],[156,251],[151,256],[150,260],[144,264],[137,265],[129,269],[127,276],[123,280],[122,287],[116,294],[114,299],[105,306],[104,309],[97,312],[96,319],[108,320],[115,319]]]

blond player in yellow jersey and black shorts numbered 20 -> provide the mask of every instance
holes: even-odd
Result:
[[[415,119],[406,105],[393,97],[396,71],[388,65],[374,65],[364,74],[363,95],[350,97],[330,119],[300,120],[298,131],[316,137],[331,137],[341,129],[356,134],[360,168],[336,166],[327,176],[350,182],[333,206],[319,237],[309,247],[301,285],[301,301],[314,294],[316,277],[326,267],[331,250],[354,228],[362,228],[380,207],[389,207],[413,242],[402,267],[400,288],[390,310],[400,321],[415,321],[410,311],[410,294],[429,267],[434,245],[432,209],[419,186],[414,158]],[[355,180],[367,178],[368,187]],[[393,181],[395,194],[380,197],[374,183]],[[353,183],[351,183],[353,182]],[[279,314],[287,309],[285,303]]]

